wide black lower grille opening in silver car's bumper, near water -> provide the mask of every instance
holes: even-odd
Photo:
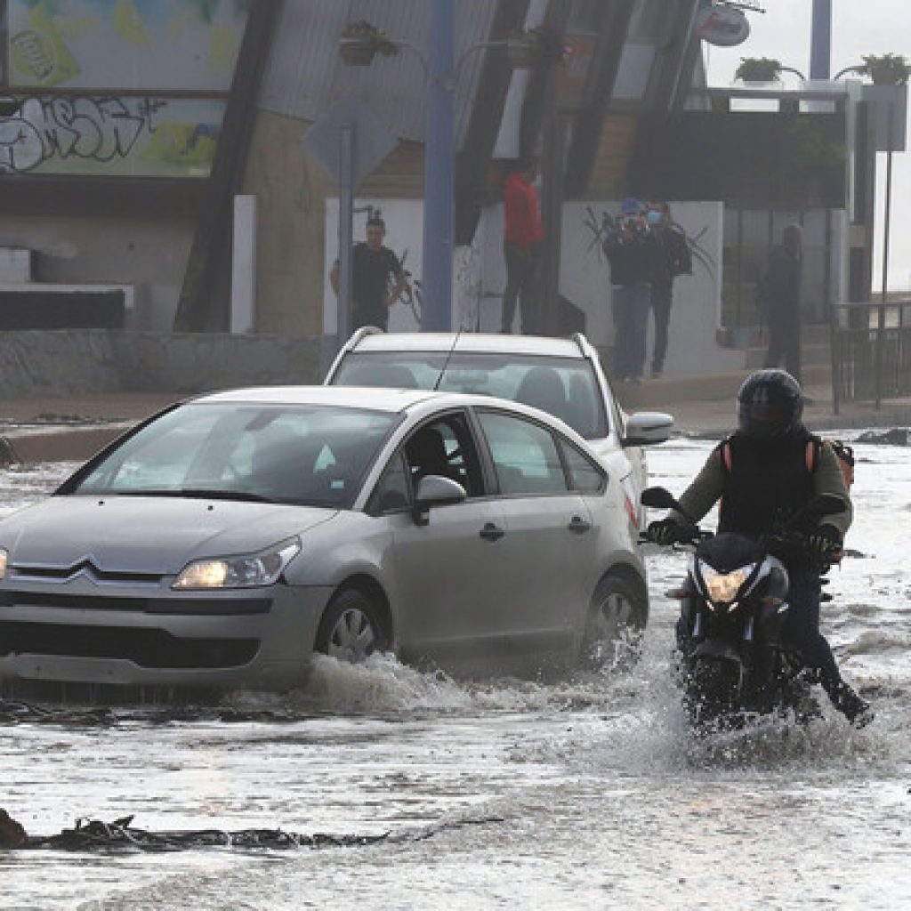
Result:
[[[165,630],[0,621],[0,657],[15,654],[114,658],[140,668],[236,668],[259,650],[256,639],[178,639]]]

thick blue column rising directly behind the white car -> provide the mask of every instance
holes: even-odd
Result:
[[[433,0],[427,66],[422,332],[452,330],[454,0]]]

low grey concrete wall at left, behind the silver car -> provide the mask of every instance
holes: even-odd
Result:
[[[322,337],[286,334],[0,333],[0,397],[319,383],[329,355]]]

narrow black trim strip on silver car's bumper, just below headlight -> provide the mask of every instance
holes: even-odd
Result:
[[[268,614],[268,598],[116,598],[108,595],[65,595],[8,589],[0,591],[0,607],[121,610],[128,613],[171,614],[180,617],[236,617]]]

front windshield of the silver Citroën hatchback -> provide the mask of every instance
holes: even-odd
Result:
[[[60,488],[351,507],[396,415],[313,405],[190,403]]]

